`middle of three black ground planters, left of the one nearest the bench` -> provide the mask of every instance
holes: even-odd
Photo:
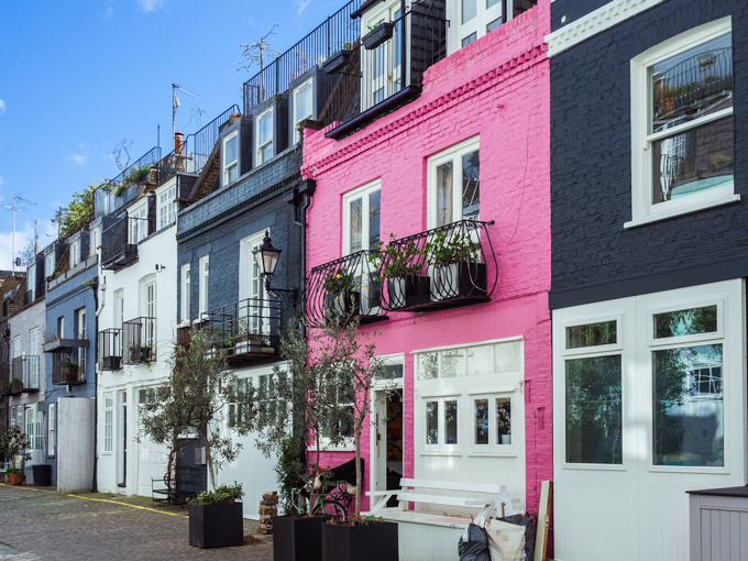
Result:
[[[322,525],[327,516],[273,518],[274,561],[321,561]]]

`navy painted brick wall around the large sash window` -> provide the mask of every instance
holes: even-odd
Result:
[[[629,61],[730,14],[735,190],[743,200],[625,230],[631,219]],[[747,92],[745,0],[669,0],[551,58],[552,308],[748,276]]]

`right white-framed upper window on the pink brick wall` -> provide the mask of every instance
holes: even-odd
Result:
[[[479,219],[481,207],[479,147],[476,136],[429,158],[427,209],[429,228],[458,220]]]

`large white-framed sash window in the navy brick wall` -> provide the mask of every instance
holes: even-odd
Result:
[[[634,220],[627,226],[736,200],[733,98],[729,19],[631,61]]]

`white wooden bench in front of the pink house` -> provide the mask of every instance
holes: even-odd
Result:
[[[372,499],[367,513],[398,524],[400,561],[458,560],[458,541],[471,521],[490,516],[518,514],[519,499],[512,499],[506,485],[437,480],[402,479],[399,490],[366,493]],[[397,507],[387,502],[397,497]],[[437,508],[441,514],[409,510]],[[437,508],[435,508],[437,507]]]

